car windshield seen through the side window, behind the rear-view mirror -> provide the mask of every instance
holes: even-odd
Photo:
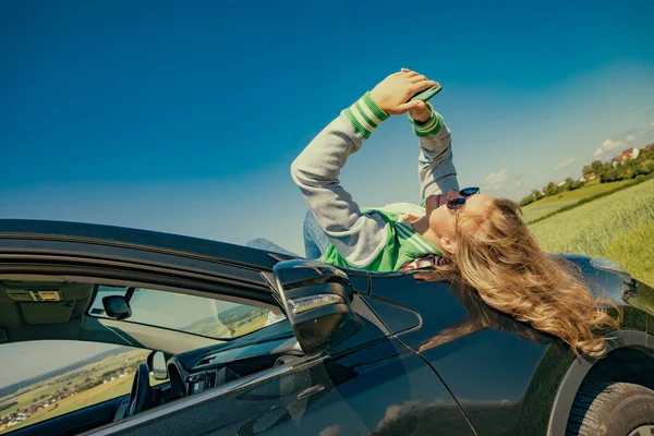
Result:
[[[131,294],[131,295],[130,295]],[[110,318],[102,305],[109,295],[126,296],[132,315],[124,319],[213,339],[233,339],[263,328],[270,311],[205,296],[154,289],[98,286],[89,315]]]

